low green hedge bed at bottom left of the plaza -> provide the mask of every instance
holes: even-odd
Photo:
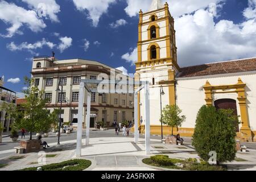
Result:
[[[61,163],[48,164],[46,166],[41,166],[42,171],[82,171],[88,168],[92,162],[85,159],[73,159],[67,160]],[[30,167],[20,169],[19,171],[36,171],[38,167]]]

